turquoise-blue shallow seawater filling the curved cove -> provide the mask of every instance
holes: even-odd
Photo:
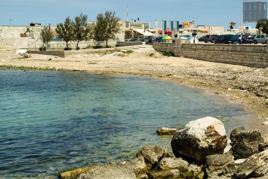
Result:
[[[171,151],[162,126],[212,116],[230,133],[250,115],[205,90],[121,74],[0,70],[0,96],[0,178],[57,178],[146,144]]]

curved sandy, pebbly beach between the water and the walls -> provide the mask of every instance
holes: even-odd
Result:
[[[69,55],[66,58],[38,54],[21,58],[21,55],[15,55],[15,51],[16,49],[0,50],[0,66],[126,73],[203,88],[233,102],[242,103],[245,110],[260,117],[252,127],[268,133],[267,126],[261,124],[268,117],[268,68],[257,69],[183,57],[166,57],[149,46],[129,54],[96,52]]]

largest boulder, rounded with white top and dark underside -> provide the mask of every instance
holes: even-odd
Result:
[[[227,146],[224,125],[216,118],[205,117],[190,121],[178,130],[171,141],[174,155],[204,162],[207,155],[223,154]]]

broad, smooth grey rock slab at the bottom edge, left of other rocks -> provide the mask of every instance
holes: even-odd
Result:
[[[81,174],[77,179],[136,179],[136,175],[130,166],[120,162],[99,166]]]

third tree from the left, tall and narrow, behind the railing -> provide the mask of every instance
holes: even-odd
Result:
[[[88,15],[83,15],[82,13],[80,16],[76,16],[74,18],[73,24],[73,39],[77,40],[77,50],[78,50],[78,43],[82,40],[89,40],[89,33],[91,31],[90,25],[87,23]]]

